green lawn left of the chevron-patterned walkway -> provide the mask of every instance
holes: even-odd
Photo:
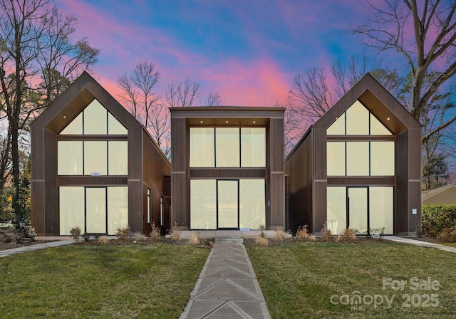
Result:
[[[1,318],[178,318],[208,250],[71,245],[0,258]]]

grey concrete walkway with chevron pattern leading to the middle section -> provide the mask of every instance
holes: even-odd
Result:
[[[271,318],[243,242],[215,239],[180,319]]]

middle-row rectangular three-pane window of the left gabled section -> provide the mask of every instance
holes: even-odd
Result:
[[[127,141],[58,141],[59,175],[127,175]]]

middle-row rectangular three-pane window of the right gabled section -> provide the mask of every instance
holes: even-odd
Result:
[[[393,176],[394,142],[326,143],[328,176]]]

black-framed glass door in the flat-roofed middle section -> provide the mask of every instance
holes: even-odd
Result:
[[[239,181],[217,181],[217,228],[239,228]]]

